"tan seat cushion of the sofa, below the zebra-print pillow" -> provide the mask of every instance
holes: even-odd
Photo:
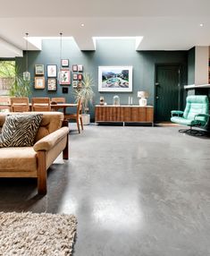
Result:
[[[9,170],[35,172],[37,170],[37,153],[32,147],[1,148],[0,173]]]

